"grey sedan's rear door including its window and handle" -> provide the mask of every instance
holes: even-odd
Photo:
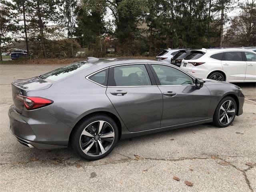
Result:
[[[160,127],[163,98],[148,64],[110,67],[106,95],[129,131]]]

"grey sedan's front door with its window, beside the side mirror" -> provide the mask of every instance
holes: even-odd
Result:
[[[207,118],[211,94],[206,86],[197,90],[191,76],[172,66],[151,64],[151,69],[163,95],[161,127]]]

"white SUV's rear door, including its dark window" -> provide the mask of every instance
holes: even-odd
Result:
[[[246,61],[241,51],[224,52],[222,58],[223,71],[228,82],[244,82],[246,74]]]

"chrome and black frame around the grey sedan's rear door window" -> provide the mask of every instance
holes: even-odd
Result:
[[[109,85],[107,85],[107,87],[110,87],[110,88],[115,88],[115,87],[120,87],[120,88],[122,88],[122,87],[157,87],[157,84],[156,84],[156,82],[155,82],[155,79],[154,79],[154,76],[153,76],[153,74],[150,74],[150,72],[151,71],[148,71],[148,67],[147,67],[147,65],[148,65],[148,63],[129,63],[129,64],[119,64],[119,65],[113,65],[113,66],[110,66],[109,68],[109,72],[108,72],[108,83],[109,83],[109,78],[110,78],[110,76],[112,76],[113,75],[113,72],[112,72],[112,70],[114,71],[114,69],[111,69],[111,68],[114,68],[114,67],[119,67],[119,66],[126,66],[126,65],[144,65],[145,66],[145,68],[146,68],[146,71],[148,72],[148,77],[149,77],[149,79],[150,79],[150,83],[151,83],[151,85],[140,85],[140,86],[109,86]],[[152,73],[152,72],[151,72]]]

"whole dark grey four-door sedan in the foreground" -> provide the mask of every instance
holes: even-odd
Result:
[[[27,147],[69,144],[86,160],[109,154],[118,139],[213,122],[243,112],[242,90],[201,80],[164,62],[97,59],[12,82],[10,131]]]

